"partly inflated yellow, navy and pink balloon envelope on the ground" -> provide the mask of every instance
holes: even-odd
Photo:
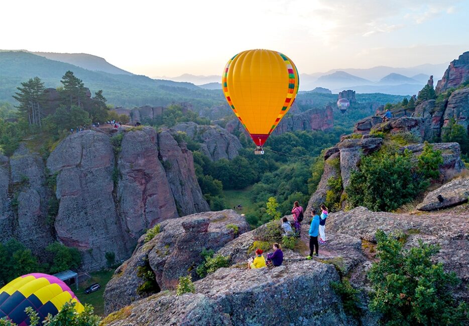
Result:
[[[34,273],[20,276],[0,289],[0,318],[7,317],[18,326],[29,325],[27,307],[37,311],[40,324],[48,313],[57,314],[68,301],[77,312],[83,306],[63,281],[55,276]]]

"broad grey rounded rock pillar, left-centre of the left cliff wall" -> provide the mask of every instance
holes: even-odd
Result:
[[[113,252],[117,261],[129,257],[133,243],[112,194],[114,151],[109,136],[95,131],[68,136],[50,154],[47,168],[58,174],[57,236],[81,251],[83,267],[101,268],[106,252]]]

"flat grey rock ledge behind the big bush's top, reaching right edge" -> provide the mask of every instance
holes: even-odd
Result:
[[[434,150],[440,150],[443,156],[443,164],[440,165],[440,179],[447,181],[459,174],[465,169],[464,162],[461,160],[461,149],[457,142],[441,142],[431,144]],[[412,144],[398,149],[399,152],[409,150],[415,158],[423,151],[424,144]]]

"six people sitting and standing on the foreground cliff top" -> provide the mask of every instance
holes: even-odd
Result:
[[[282,219],[282,229],[285,236],[300,237],[301,235],[301,222],[303,221],[303,207],[296,201],[292,208],[293,224],[288,221],[286,217]],[[319,244],[326,244],[325,225],[328,216],[327,207],[321,205],[321,214],[318,215],[315,209],[311,210],[311,224],[309,227],[309,256],[306,259],[311,259],[313,255],[319,255]],[[319,239],[318,239],[319,236]],[[274,252],[267,254],[267,259],[263,256],[263,250],[258,248],[256,256],[248,261],[248,269],[263,268],[269,264],[273,266],[280,266],[283,262],[283,252],[278,243],[272,246]]]

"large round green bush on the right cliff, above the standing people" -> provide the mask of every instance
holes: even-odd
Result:
[[[365,206],[373,211],[392,211],[428,187],[419,177],[412,154],[380,150],[362,158],[358,171],[350,174],[345,192],[352,207]]]

